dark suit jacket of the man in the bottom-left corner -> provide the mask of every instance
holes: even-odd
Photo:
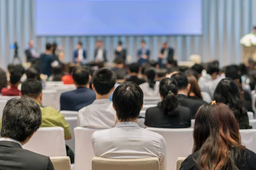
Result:
[[[43,156],[9,141],[0,141],[0,170],[54,170],[48,156]]]

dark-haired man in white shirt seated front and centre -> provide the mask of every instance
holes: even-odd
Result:
[[[143,91],[134,82],[124,82],[113,94],[116,125],[92,135],[96,156],[112,159],[157,157],[160,169],[166,170],[166,142],[158,133],[137,124],[143,108]]]

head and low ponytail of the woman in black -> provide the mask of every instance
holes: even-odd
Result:
[[[163,113],[166,115],[177,115],[179,113],[177,93],[178,87],[175,79],[164,78],[159,84],[159,93],[163,98],[162,109]]]

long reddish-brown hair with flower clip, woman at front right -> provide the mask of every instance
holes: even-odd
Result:
[[[227,105],[204,104],[195,115],[193,153],[200,170],[238,170],[236,160],[245,149],[239,124]]]

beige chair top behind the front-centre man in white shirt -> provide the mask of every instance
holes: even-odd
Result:
[[[92,170],[160,170],[158,158],[109,159],[94,157]]]

